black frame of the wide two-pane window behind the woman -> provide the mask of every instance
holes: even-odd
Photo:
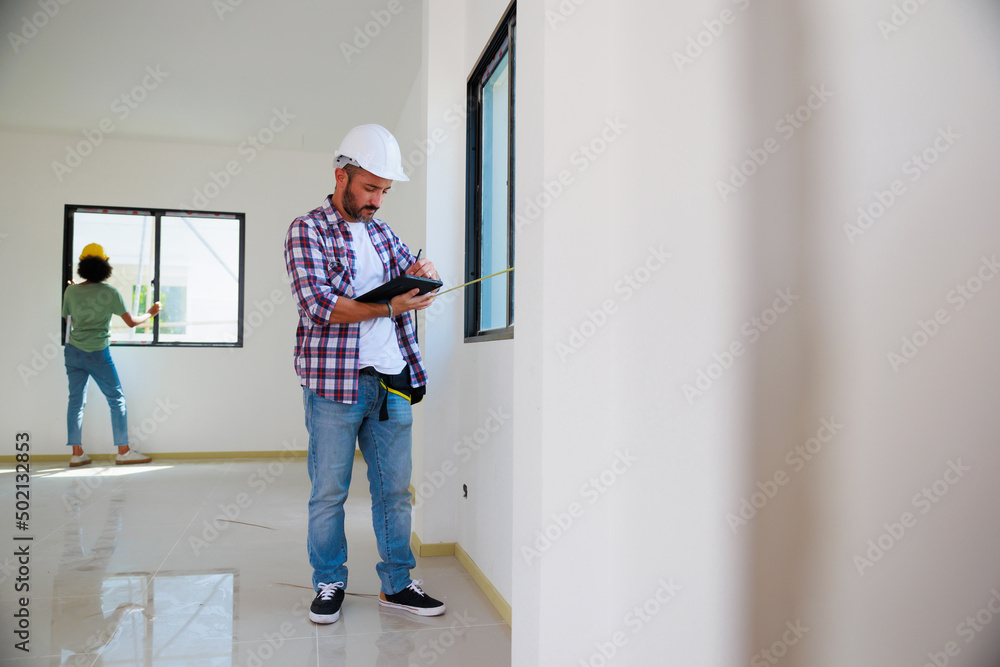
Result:
[[[62,289],[59,294],[65,292],[69,281],[74,280],[77,258],[73,256],[73,216],[76,212],[84,213],[110,213],[118,215],[144,215],[153,217],[153,301],[160,300],[160,237],[161,219],[163,217],[218,217],[236,218],[240,222],[240,266],[237,285],[239,303],[237,304],[236,315],[236,341],[235,342],[185,342],[185,341],[160,341],[160,318],[153,318],[153,340],[149,342],[115,342],[114,347],[243,347],[243,293],[246,283],[246,214],[230,211],[194,211],[179,208],[151,208],[148,206],[95,206],[90,204],[66,204],[63,211],[63,271]],[[134,313],[133,313],[134,314]],[[66,344],[66,318],[62,319],[62,342]]]

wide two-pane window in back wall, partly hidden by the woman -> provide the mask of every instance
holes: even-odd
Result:
[[[113,317],[112,345],[242,347],[244,214],[68,205],[65,215],[63,285],[99,243],[130,313],[163,304],[134,329]]]

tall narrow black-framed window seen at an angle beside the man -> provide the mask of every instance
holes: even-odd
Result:
[[[515,6],[469,77],[466,280],[514,266]],[[465,288],[466,340],[514,336],[514,274]]]

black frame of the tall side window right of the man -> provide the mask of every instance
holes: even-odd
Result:
[[[468,121],[466,136],[466,197],[465,197],[465,273],[466,281],[483,277],[482,273],[482,162],[479,159],[482,143],[483,85],[496,69],[503,56],[508,54],[510,84],[508,87],[507,132],[507,267],[514,266],[514,102],[516,92],[516,27],[517,3],[512,2],[490,37],[486,50],[469,75],[467,82]],[[507,326],[482,329],[483,282],[465,288],[465,342],[504,340],[514,337],[514,272],[490,280],[507,281]]]

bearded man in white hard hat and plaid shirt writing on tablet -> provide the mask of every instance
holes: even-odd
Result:
[[[361,125],[334,155],[336,189],[319,208],[296,218],[285,237],[285,266],[299,310],[295,370],[302,385],[308,466],[309,562],[314,623],[333,623],[347,588],[344,501],[355,443],[368,464],[372,522],[381,562],[379,604],[421,616],[444,604],[410,579],[411,403],[423,397],[427,373],[411,311],[431,295],[417,289],[388,303],[352,297],[401,274],[437,279],[375,217],[393,181],[408,181],[399,144],[381,125]]]

